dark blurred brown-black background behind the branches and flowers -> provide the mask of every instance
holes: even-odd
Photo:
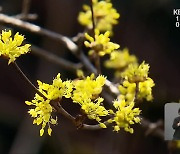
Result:
[[[83,32],[77,16],[87,0],[31,0],[30,13],[38,18],[34,24],[51,31],[73,37]],[[119,24],[114,27],[113,41],[128,47],[139,62],[150,64],[150,77],[155,81],[154,101],[140,104],[142,115],[151,122],[164,119],[164,104],[179,102],[180,87],[180,28],[175,27],[174,8],[180,8],[178,0],[112,0],[120,13]],[[23,0],[1,0],[0,13],[14,16],[22,11]],[[0,30],[13,29],[26,36],[26,41],[73,62],[77,59],[59,42],[32,34],[22,28],[0,23]],[[64,70],[37,55],[27,54],[17,63],[36,83],[39,79],[51,83],[61,72],[64,79],[73,78]],[[0,59],[0,154],[166,154],[177,152],[174,144],[154,135],[145,135],[141,125],[135,126],[133,135],[124,131],[112,132],[112,128],[100,131],[76,130],[65,118],[53,127],[52,136],[39,136],[39,127],[32,125],[27,114],[25,100],[31,100],[34,92],[16,70]],[[109,76],[111,71],[104,70]],[[74,110],[66,105],[68,109]]]

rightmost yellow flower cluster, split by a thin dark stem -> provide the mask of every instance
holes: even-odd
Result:
[[[144,62],[141,65],[130,64],[128,68],[121,74],[124,79],[122,85],[119,86],[119,91],[127,102],[131,102],[135,99],[146,99],[151,101],[152,87],[154,87],[154,81],[148,77],[149,65]]]

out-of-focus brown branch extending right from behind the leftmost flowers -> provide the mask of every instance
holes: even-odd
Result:
[[[66,70],[69,70],[69,71],[72,71],[72,72],[76,72],[77,69],[80,69],[82,68],[82,64],[75,64],[75,63],[72,63],[70,61],[67,61],[61,57],[58,57],[57,55],[55,54],[52,54],[44,49],[41,49],[35,45],[32,45],[31,46],[31,52],[35,55],[38,55],[54,64],[57,64],[59,66],[61,66],[63,69],[66,69]]]

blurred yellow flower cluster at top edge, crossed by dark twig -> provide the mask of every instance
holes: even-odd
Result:
[[[110,0],[93,1],[94,19],[96,28],[100,31],[112,31],[113,25],[118,23],[120,14],[113,8]],[[88,5],[83,5],[85,12],[80,12],[78,21],[80,24],[92,28],[92,13]]]

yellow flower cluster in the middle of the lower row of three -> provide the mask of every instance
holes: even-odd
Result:
[[[94,74],[92,74],[82,80],[75,80],[72,100],[80,104],[88,118],[100,122],[100,116],[108,115],[108,111],[102,105],[104,99],[99,97],[106,78],[102,75],[94,78]]]

